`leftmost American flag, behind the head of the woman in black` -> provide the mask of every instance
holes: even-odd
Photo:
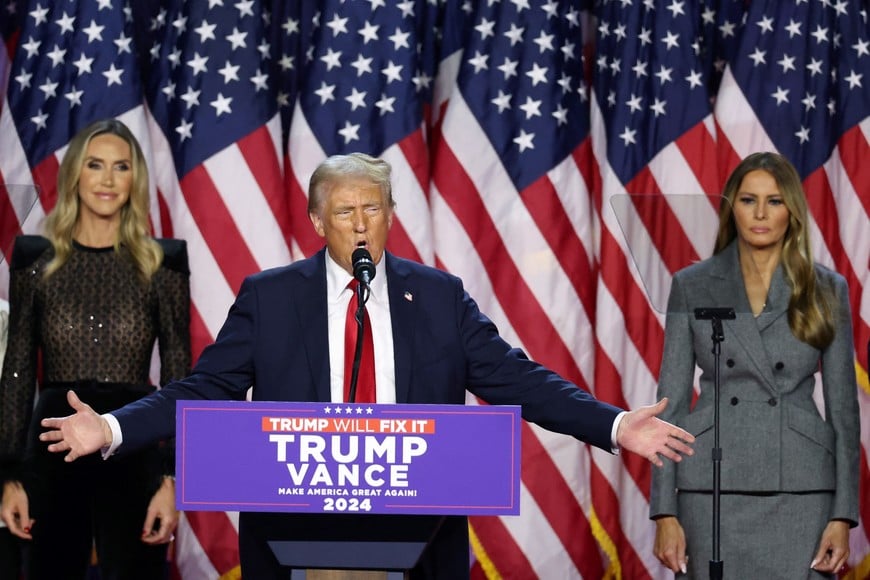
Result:
[[[0,202],[0,243],[8,251],[19,228],[39,231],[53,207],[68,139],[103,117],[142,127],[144,114],[129,11],[106,1],[8,2],[4,16],[8,53],[3,51],[0,63],[8,54],[10,65],[0,107],[0,188],[7,192]],[[14,229],[12,217],[18,221]],[[4,289],[7,281],[3,266]]]

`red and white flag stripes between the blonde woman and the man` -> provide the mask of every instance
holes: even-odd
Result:
[[[163,235],[187,241],[195,360],[217,336],[244,277],[290,261],[280,120],[276,116],[181,179],[150,116],[148,134],[158,190],[153,221]],[[237,578],[237,520],[235,513],[187,514],[176,533],[179,577]]]

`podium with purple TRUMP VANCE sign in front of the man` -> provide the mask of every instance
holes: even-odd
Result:
[[[246,512],[293,580],[402,580],[451,516],[519,514],[517,406],[179,401],[176,421],[178,509]]]

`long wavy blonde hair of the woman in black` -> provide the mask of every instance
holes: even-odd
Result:
[[[91,123],[70,141],[57,174],[57,203],[45,220],[45,235],[54,247],[54,258],[46,266],[45,276],[57,272],[72,254],[73,234],[81,206],[79,178],[88,145],[99,135],[115,135],[130,146],[133,183],[130,197],[121,208],[121,225],[114,248],[117,253],[126,250],[139,278],[143,283],[148,283],[163,262],[163,250],[151,237],[148,221],[148,167],[136,137],[117,119]]]

